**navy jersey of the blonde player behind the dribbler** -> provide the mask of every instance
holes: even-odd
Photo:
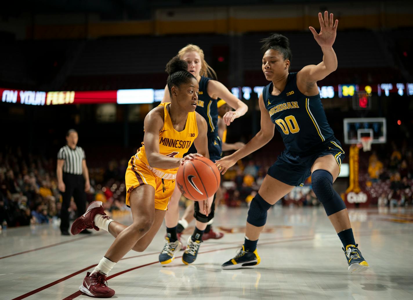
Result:
[[[198,105],[195,109],[202,115],[208,124],[207,136],[218,136],[218,99],[212,99],[208,95],[207,87],[210,78],[201,76],[199,81]]]

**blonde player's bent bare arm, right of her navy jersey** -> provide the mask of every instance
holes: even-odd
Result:
[[[239,118],[248,110],[247,104],[235,97],[221,82],[216,80],[209,80],[208,82],[208,95],[211,98],[224,99],[230,107],[235,109],[234,111],[226,112],[222,117],[225,124],[230,125],[236,118]]]

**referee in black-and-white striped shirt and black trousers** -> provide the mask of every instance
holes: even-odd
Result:
[[[85,213],[86,193],[90,190],[89,172],[86,166],[85,151],[77,146],[78,133],[70,129],[66,133],[67,144],[57,154],[57,184],[62,192],[62,209],[60,211],[60,231],[69,235],[69,206],[73,196],[77,206],[77,217]],[[90,233],[83,230],[81,233]]]

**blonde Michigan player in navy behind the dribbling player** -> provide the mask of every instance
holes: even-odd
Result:
[[[179,50],[178,56],[180,59],[188,63],[188,72],[194,75],[199,83],[198,104],[196,112],[198,112],[207,121],[208,125],[208,151],[209,158],[215,162],[221,158],[222,142],[218,136],[218,98],[226,100],[234,111],[228,111],[223,116],[223,121],[226,125],[230,125],[236,118],[244,115],[248,107],[245,103],[240,101],[221,83],[212,80],[207,75],[215,75],[215,71],[208,65],[204,59],[204,52],[197,45],[187,45]],[[165,87],[165,94],[162,102],[169,102],[169,91]],[[188,153],[196,153],[197,150],[191,147]],[[170,263],[173,260],[173,255],[176,253],[176,245],[178,245],[176,226],[179,219],[178,201],[180,198],[179,189],[175,189],[169,202],[168,211],[165,215],[166,224],[166,243],[159,255],[159,262],[162,264]],[[214,218],[214,196],[210,197],[208,201],[204,201],[204,208],[199,208],[199,202],[195,202],[196,219],[195,230],[188,239],[188,244],[185,253],[182,256],[182,261],[185,264],[193,263],[197,257],[199,246],[202,242],[202,235],[207,228],[207,224]],[[208,213],[204,214],[203,212]],[[174,250],[172,250],[174,249]]]

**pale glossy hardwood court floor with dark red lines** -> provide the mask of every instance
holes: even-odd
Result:
[[[205,241],[197,260],[162,267],[161,227],[145,252],[129,252],[109,274],[117,299],[413,299],[412,209],[350,209],[370,270],[351,274],[322,208],[268,211],[251,269],[221,270],[243,242],[247,209],[217,209],[220,240]],[[131,223],[124,216],[123,223]],[[193,228],[193,227],[192,227]],[[184,240],[189,237],[186,230]],[[78,286],[113,241],[107,232],[61,236],[56,225],[8,228],[0,235],[0,299],[90,299]]]

